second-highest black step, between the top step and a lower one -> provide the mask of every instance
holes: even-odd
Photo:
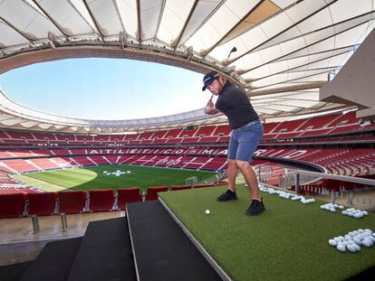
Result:
[[[68,280],[136,280],[125,218],[89,223]]]

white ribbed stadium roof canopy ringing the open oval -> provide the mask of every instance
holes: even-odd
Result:
[[[0,0],[0,73],[41,61],[127,58],[218,70],[241,84],[260,117],[349,105],[319,89],[374,27],[374,0]],[[236,52],[232,52],[236,47]],[[223,122],[201,109],[101,121],[56,117],[1,93],[0,126],[113,133]]]

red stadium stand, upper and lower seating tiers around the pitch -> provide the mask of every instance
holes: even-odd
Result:
[[[262,144],[255,155],[276,162],[286,159],[317,164],[328,173],[351,176],[373,174],[374,155],[369,143],[374,140],[374,131],[375,126],[361,124],[354,111],[266,123]],[[223,125],[115,136],[0,130],[1,144],[7,142],[7,146],[0,149],[0,169],[5,173],[29,173],[85,165],[137,164],[224,171],[229,134],[229,126]],[[48,148],[35,146],[43,145],[34,143],[38,140],[58,145]],[[84,142],[84,145],[72,144],[76,141]],[[123,143],[116,146],[119,142]],[[348,145],[342,146],[343,143]],[[352,147],[353,143],[361,145]],[[296,148],[287,146],[291,144],[297,145]],[[327,147],[326,144],[332,145]],[[264,171],[272,173],[266,167]],[[280,176],[275,171],[274,177],[264,176],[261,179],[264,183],[278,183]],[[24,187],[10,176],[0,177],[0,186]],[[5,192],[4,188],[2,192]],[[9,189],[9,192],[14,191]]]

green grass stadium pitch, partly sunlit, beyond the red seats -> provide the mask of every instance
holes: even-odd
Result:
[[[130,171],[120,176],[105,175],[109,173]],[[197,176],[204,181],[216,173],[195,170],[170,169],[162,167],[132,166],[132,165],[101,165],[77,169],[53,170],[40,173],[24,173],[14,176],[18,181],[32,185],[43,191],[55,192],[61,190],[95,190],[121,187],[139,187],[144,191],[150,186],[183,185],[186,179]]]

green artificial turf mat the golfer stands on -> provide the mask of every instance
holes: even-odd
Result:
[[[343,280],[375,265],[375,247],[341,253],[328,244],[354,229],[375,231],[375,214],[356,220],[322,211],[322,201],[303,204],[262,192],[266,211],[249,217],[244,185],[237,185],[237,201],[216,201],[225,190],[159,196],[233,280]]]

